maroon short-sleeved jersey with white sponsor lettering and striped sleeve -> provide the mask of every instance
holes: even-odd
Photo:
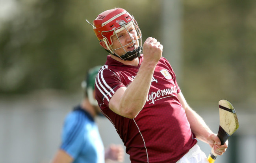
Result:
[[[147,101],[136,118],[125,118],[108,107],[115,91],[134,80],[142,61],[143,55],[135,67],[108,56],[96,77],[96,100],[115,126],[132,163],[176,163],[197,140],[177,98],[176,76],[165,58],[156,65]]]

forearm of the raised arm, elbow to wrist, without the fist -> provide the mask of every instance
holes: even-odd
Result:
[[[119,109],[128,118],[135,118],[147,100],[156,63],[141,63],[134,81],[121,97]]]

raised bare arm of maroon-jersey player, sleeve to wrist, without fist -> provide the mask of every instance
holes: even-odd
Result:
[[[141,67],[134,81],[126,88],[121,87],[113,94],[109,101],[109,108],[124,117],[135,118],[143,108],[150,88],[154,65]]]

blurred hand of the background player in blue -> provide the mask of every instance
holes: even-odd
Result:
[[[124,148],[122,145],[110,145],[105,151],[105,159],[112,159],[115,161],[124,161]]]

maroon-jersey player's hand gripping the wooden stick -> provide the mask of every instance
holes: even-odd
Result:
[[[210,147],[213,148],[215,154],[222,155],[224,152],[226,152],[226,149],[228,148],[228,140],[221,145],[221,140],[217,134],[211,134],[208,136],[207,140]]]

